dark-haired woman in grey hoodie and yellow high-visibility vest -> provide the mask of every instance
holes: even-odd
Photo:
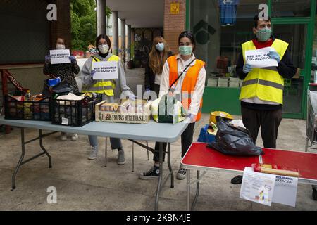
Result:
[[[125,70],[118,56],[115,56],[109,52],[111,48],[111,41],[107,35],[100,34],[96,39],[96,46],[98,53],[91,56],[85,62],[82,68],[82,92],[90,92],[102,94],[102,100],[106,100],[107,103],[114,102],[114,89],[116,84],[120,86],[122,92],[121,96],[129,96],[134,100],[135,96],[131,89],[127,86],[125,81]],[[92,62],[100,61],[116,61],[118,62],[118,79],[92,79],[96,71],[92,70]],[[125,164],[125,153],[122,147],[120,139],[110,139],[111,148],[118,149],[118,165]],[[89,160],[94,160],[98,155],[98,140],[97,136],[89,136],[89,143],[92,146],[92,151],[89,155]]]

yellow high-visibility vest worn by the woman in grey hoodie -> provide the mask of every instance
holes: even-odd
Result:
[[[108,61],[116,61],[118,62],[120,58],[118,56],[112,55],[110,58],[108,58]],[[101,60],[97,57],[92,56],[92,61],[94,62],[100,62]],[[99,94],[106,94],[107,96],[113,96],[113,90],[116,89],[116,80],[115,79],[109,79],[109,80],[96,80],[93,85],[82,85],[82,92],[94,92]]]

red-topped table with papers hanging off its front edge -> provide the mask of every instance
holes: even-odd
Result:
[[[299,169],[298,181],[300,183],[317,185],[316,153],[271,148],[263,148],[263,151],[264,155],[260,156],[232,156],[208,148],[207,143],[192,143],[181,161],[182,167],[187,169],[187,210],[190,210],[190,169],[197,169],[196,195],[192,203],[192,210],[199,195],[200,170],[242,175],[244,167],[251,167],[252,163],[281,165]]]

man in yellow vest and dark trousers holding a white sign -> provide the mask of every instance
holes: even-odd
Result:
[[[256,37],[242,44],[236,67],[237,75],[243,80],[242,121],[254,143],[261,127],[264,148],[276,148],[282,120],[284,78],[292,78],[297,68],[287,50],[288,43],[272,36],[271,18],[263,20],[256,15],[253,32]],[[231,180],[232,184],[241,182],[242,176]]]

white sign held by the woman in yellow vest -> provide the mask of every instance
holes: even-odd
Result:
[[[92,79],[118,79],[118,62],[92,62],[92,70],[96,73]]]

